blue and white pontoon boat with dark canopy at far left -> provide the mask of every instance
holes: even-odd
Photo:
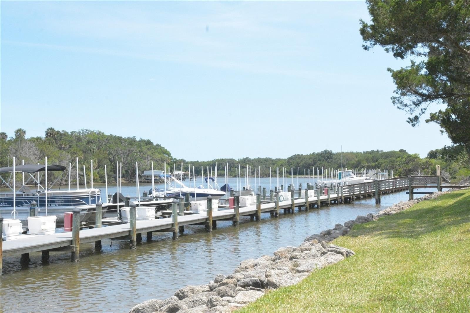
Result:
[[[57,217],[57,224],[63,224],[63,214],[71,212],[74,208],[80,209],[81,221],[94,220],[96,203],[101,202],[101,190],[98,188],[88,189],[75,189],[75,190],[50,190],[44,188],[34,173],[44,172],[46,165],[44,164],[24,164],[16,165],[15,172],[23,172],[24,175],[29,175],[28,179],[24,182],[23,186],[16,190],[10,186],[13,177],[13,166],[1,167],[0,174],[10,173],[9,178],[5,180],[0,176],[1,181],[10,188],[8,192],[0,193],[0,215],[5,218],[17,218],[23,222],[30,216],[31,203],[37,203],[37,216],[55,215]],[[47,171],[64,171],[65,166],[62,165],[48,165]],[[57,179],[58,180],[58,179]],[[56,181],[57,181],[56,180]],[[55,181],[55,182],[56,182]],[[54,186],[55,182],[50,186]],[[34,189],[31,190],[27,184],[34,184]],[[47,210],[46,210],[46,193],[47,193]],[[15,213],[14,203],[15,201]],[[106,205],[103,205],[103,212]],[[46,212],[47,211],[47,212]],[[15,216],[16,215],[16,216]],[[25,223],[23,223],[25,225]]]

